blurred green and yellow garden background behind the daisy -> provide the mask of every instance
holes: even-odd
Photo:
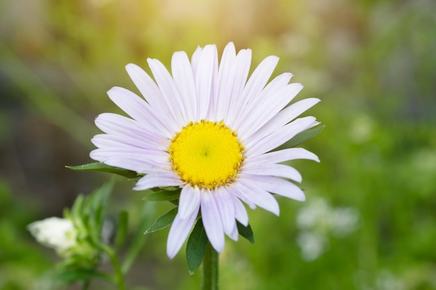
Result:
[[[304,144],[321,163],[292,163],[307,201],[249,211],[256,243],[227,241],[221,289],[436,289],[434,0],[0,1],[0,289],[67,289],[26,225],[109,179],[64,166],[91,161],[93,119],[117,111],[105,92],[137,92],[124,66],[229,41],[253,67],[279,56],[275,75],[322,99],[306,114],[327,127]],[[145,205],[132,186],[118,179],[111,203],[131,234]],[[167,233],[148,237],[130,289],[198,289],[185,255],[166,257]]]

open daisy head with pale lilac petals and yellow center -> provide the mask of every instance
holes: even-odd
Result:
[[[236,54],[229,43],[218,61],[217,47],[207,45],[198,47],[191,61],[184,51],[174,53],[171,73],[149,58],[155,81],[137,65],[127,65],[145,99],[124,88],[109,90],[109,98],[131,118],[99,115],[95,124],[105,134],[92,139],[98,149],[91,158],[143,174],[135,190],[181,188],[166,247],[171,259],[199,213],[210,243],[221,252],[225,235],[238,239],[236,220],[248,225],[242,202],[278,216],[273,194],[305,199],[293,183],[301,182],[301,175],[281,163],[318,157],[302,148],[272,150],[319,124],[314,117],[297,118],[319,99],[287,106],[303,86],[289,83],[290,73],[267,83],[278,61],[268,56],[248,77],[250,49]]]

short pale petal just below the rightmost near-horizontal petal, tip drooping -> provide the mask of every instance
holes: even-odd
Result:
[[[283,164],[256,163],[254,166],[244,164],[242,173],[250,175],[272,175],[293,179],[296,182],[302,182],[302,175],[300,175],[295,168]]]

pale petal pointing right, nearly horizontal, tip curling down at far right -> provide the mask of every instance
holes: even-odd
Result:
[[[244,166],[248,164],[255,166],[256,164],[263,164],[265,162],[280,163],[295,159],[308,159],[320,162],[318,156],[304,148],[288,148],[247,158],[247,160],[244,161]]]

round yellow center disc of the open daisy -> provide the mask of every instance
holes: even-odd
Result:
[[[191,186],[215,188],[233,182],[244,161],[244,146],[224,122],[189,122],[171,139],[173,170]]]

